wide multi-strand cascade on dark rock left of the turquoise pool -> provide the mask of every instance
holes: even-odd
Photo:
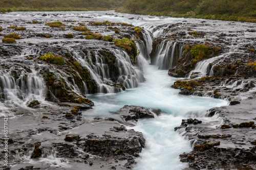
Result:
[[[109,52],[108,52],[109,53]],[[82,66],[90,72],[92,79],[97,84],[97,93],[116,93],[125,88],[134,88],[143,82],[142,71],[133,66],[129,55],[121,50],[112,51],[114,58],[108,58],[99,52],[87,53],[72,52]],[[111,64],[109,63],[112,60]],[[139,63],[142,65],[142,61]],[[84,89],[88,87],[84,83]]]

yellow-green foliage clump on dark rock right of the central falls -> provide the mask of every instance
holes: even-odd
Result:
[[[202,59],[206,58],[207,55],[211,54],[210,46],[204,44],[197,44],[195,46],[192,46],[190,54],[197,61],[201,61]]]

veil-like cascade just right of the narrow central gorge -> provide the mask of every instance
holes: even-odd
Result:
[[[151,54],[151,62],[159,69],[174,68],[182,55],[183,44],[177,41],[164,40],[157,45],[156,52]]]

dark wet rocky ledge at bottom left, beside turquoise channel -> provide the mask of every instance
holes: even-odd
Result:
[[[52,166],[130,169],[144,148],[145,139],[142,133],[127,130],[123,125],[134,126],[139,118],[154,117],[150,109],[128,105],[113,112],[111,117],[88,116],[88,111],[93,108],[86,104],[61,103],[55,106],[53,103],[38,114],[40,109],[34,108],[36,116],[19,117],[18,124],[10,130],[9,159],[15,160],[10,162],[14,169],[48,169]],[[81,116],[81,111],[85,117]],[[28,118],[30,126],[24,126]],[[4,156],[3,153],[0,156]],[[44,165],[40,164],[41,161],[45,162]]]

